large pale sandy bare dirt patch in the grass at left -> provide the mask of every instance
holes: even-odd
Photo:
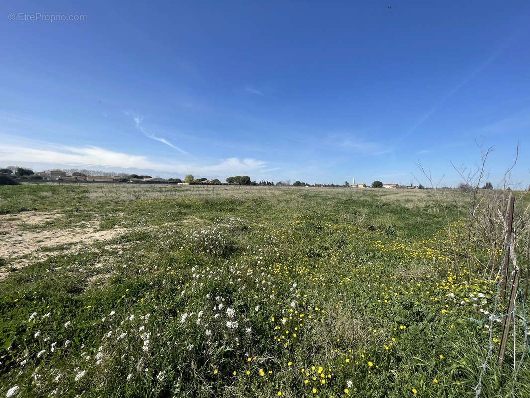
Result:
[[[83,222],[68,229],[42,229],[39,224],[62,217],[59,213],[27,212],[21,214],[0,215],[0,257],[9,265],[21,267],[33,262],[42,261],[57,253],[72,252],[92,245],[96,241],[110,240],[123,233],[127,228],[99,229],[99,221]],[[37,226],[31,231],[22,230],[23,226]],[[0,271],[0,279],[4,272]]]

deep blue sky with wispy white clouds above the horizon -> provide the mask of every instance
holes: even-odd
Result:
[[[73,3],[0,5],[2,167],[530,182],[527,2]]]

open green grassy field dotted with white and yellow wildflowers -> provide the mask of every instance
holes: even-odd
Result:
[[[449,255],[467,200],[0,187],[0,394],[474,397],[489,323],[469,318],[492,313],[496,284]],[[530,396],[524,349],[510,336],[482,396]]]

